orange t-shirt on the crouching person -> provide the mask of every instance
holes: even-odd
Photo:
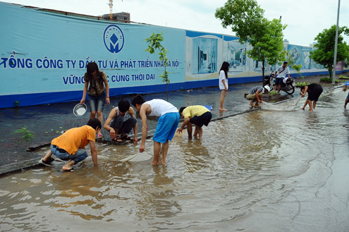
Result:
[[[89,140],[96,139],[96,130],[90,126],[82,126],[79,128],[71,128],[63,135],[54,138],[51,145],[56,145],[61,149],[65,149],[69,154],[75,154],[78,149],[84,148],[89,144]]]

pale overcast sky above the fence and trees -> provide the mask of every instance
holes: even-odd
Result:
[[[0,0],[25,6],[36,6],[58,11],[68,11],[89,16],[109,14],[109,0]],[[226,0],[114,0],[113,13],[128,12],[136,23],[235,35],[231,28],[223,28],[214,17],[216,8]],[[280,18],[287,27],[284,39],[290,44],[310,46],[324,29],[337,23],[337,0],[257,0],[264,16]],[[349,0],[341,0],[339,26],[349,27]],[[349,37],[345,36],[349,44]]]

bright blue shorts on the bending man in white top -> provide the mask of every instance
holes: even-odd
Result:
[[[157,120],[157,128],[153,136],[155,142],[165,143],[172,140],[178,128],[179,113],[167,113]]]

